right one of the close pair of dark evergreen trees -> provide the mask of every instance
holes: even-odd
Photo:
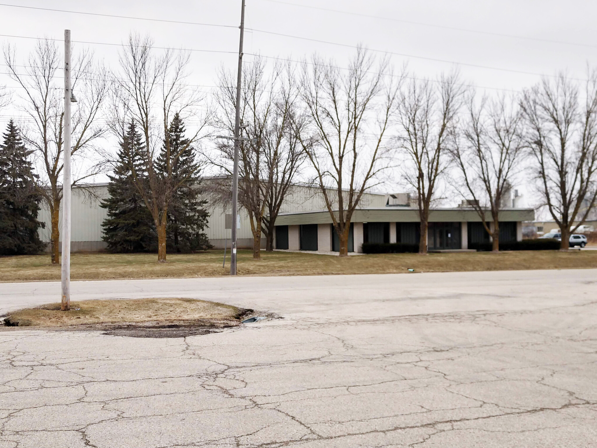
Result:
[[[184,122],[176,113],[168,128],[170,154],[164,145],[156,161],[156,166],[162,173],[171,170],[171,179],[181,185],[174,192],[168,208],[167,250],[177,252],[212,247],[204,233],[210,215],[204,208],[207,201],[201,199],[197,151],[190,145],[189,139],[184,137],[184,132]]]

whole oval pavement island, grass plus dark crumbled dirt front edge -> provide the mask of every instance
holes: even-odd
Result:
[[[21,309],[5,317],[8,327],[101,331],[131,337],[185,337],[207,335],[236,327],[252,309],[184,298],[84,300],[70,311],[60,303]]]

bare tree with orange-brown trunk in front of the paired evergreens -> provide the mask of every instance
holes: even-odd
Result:
[[[165,50],[156,54],[149,37],[130,35],[119,56],[120,70],[114,74],[112,91],[112,128],[122,132],[128,122],[139,125],[144,140],[142,166],[131,154],[128,160],[137,192],[152,214],[158,234],[158,262],[166,262],[166,225],[168,207],[175,192],[201,169],[201,164],[184,176],[176,174],[181,155],[205,136],[209,113],[199,115],[197,108],[202,97],[184,84],[187,78],[189,54]],[[195,133],[176,151],[170,142],[168,128],[174,118],[193,115],[198,118]],[[159,160],[158,160],[159,159]]]

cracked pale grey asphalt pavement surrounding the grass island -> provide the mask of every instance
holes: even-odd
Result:
[[[284,319],[0,332],[0,448],[597,447],[597,270],[87,281]],[[59,283],[0,284],[0,313]]]

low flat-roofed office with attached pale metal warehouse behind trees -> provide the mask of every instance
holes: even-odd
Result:
[[[107,198],[107,183],[72,189],[72,251],[97,252],[106,248],[101,223],[107,211],[100,207]],[[49,242],[50,213],[42,203],[39,220],[42,241]],[[225,228],[223,205],[208,208],[207,237],[215,248],[230,247],[230,229]],[[239,211],[238,247],[253,247],[247,213]],[[489,219],[489,216],[487,217]],[[500,241],[522,240],[522,222],[533,221],[534,211],[505,208],[500,211]],[[60,220],[61,225],[61,220]],[[352,217],[349,251],[360,252],[363,243],[418,243],[418,211],[408,194],[364,194]],[[430,250],[466,249],[470,243],[489,241],[478,213],[470,207],[436,208],[430,213],[428,247]],[[296,185],[287,195],[276,220],[274,247],[280,250],[338,251],[338,238],[330,213],[318,188]],[[261,240],[265,247],[265,237]]]

